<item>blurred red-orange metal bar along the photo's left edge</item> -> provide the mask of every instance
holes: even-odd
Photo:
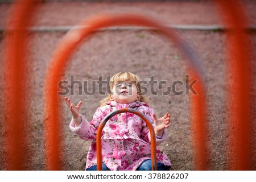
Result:
[[[14,3],[11,7],[10,22],[7,24],[6,40],[3,51],[3,126],[6,128],[6,162],[7,170],[26,169],[29,156],[25,125],[28,125],[27,101],[29,91],[27,83],[29,73],[26,72],[27,61],[27,27],[35,9],[36,1],[23,0]],[[15,113],[14,113],[15,112]]]

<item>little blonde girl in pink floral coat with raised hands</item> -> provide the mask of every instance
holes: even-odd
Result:
[[[71,110],[72,121],[70,129],[81,139],[92,140],[85,169],[97,170],[96,162],[96,134],[100,122],[114,110],[130,107],[141,111],[152,122],[156,135],[156,144],[166,139],[166,129],[169,126],[170,114],[157,119],[154,111],[148,106],[147,98],[141,95],[139,78],[130,72],[120,72],[110,79],[110,95],[101,101],[88,122],[79,114],[82,104],[77,106],[65,97]],[[151,170],[150,132],[140,117],[132,113],[120,113],[110,118],[102,131],[102,170]],[[162,150],[157,148],[156,157],[158,170],[169,170],[170,160]]]

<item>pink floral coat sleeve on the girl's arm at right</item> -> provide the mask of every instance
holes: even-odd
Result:
[[[143,114],[146,115],[146,117],[150,120],[153,128],[155,127],[154,125],[154,117],[153,114],[154,110],[149,108],[147,110],[143,111]],[[148,126],[146,124],[146,122],[142,123],[142,136],[143,136],[143,140],[145,140],[148,143],[151,143],[151,134],[150,134],[150,130],[148,129]],[[166,140],[166,131],[163,130],[163,135],[159,138],[156,138],[156,145],[159,145],[160,143],[163,143],[164,140]]]

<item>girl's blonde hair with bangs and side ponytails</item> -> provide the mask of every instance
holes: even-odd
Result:
[[[138,101],[148,103],[148,98],[141,94],[141,85],[140,85],[138,76],[134,75],[131,72],[119,72],[119,73],[115,74],[112,78],[110,78],[110,82],[109,82],[110,91],[113,89],[114,84],[118,81],[134,82],[134,84],[136,85],[137,90],[138,90],[138,93],[137,93],[139,96]],[[104,105],[106,105],[106,102],[111,101],[111,96],[112,95],[109,94],[108,97],[106,97],[106,98],[104,98],[104,100],[100,101],[100,105],[104,106]]]

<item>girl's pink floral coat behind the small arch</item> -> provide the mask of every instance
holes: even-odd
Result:
[[[81,125],[75,127],[73,120],[69,127],[81,139],[93,140],[90,145],[86,169],[96,165],[96,133],[102,119],[110,112],[121,108],[133,108],[141,111],[154,123],[153,110],[144,102],[131,102],[119,104],[115,101],[107,102],[105,106],[98,107],[91,122],[81,115]],[[156,144],[166,139],[164,132],[162,138],[156,138]],[[159,148],[156,149],[158,162],[171,166],[170,160]],[[102,162],[110,170],[136,170],[144,160],[151,159],[150,132],[140,117],[133,113],[120,113],[110,118],[102,131]]]

